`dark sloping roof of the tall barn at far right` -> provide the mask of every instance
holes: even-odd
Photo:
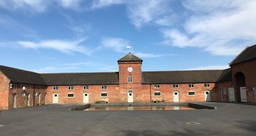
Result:
[[[240,62],[244,62],[246,60],[252,60],[256,58],[256,45],[246,47],[232,62],[230,65],[234,65]]]

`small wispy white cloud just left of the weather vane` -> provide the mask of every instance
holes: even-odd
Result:
[[[100,41],[101,45],[105,48],[110,48],[115,52],[122,52],[129,45],[129,41],[122,38],[104,37]]]

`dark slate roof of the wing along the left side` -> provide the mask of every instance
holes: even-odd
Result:
[[[36,72],[0,65],[0,71],[12,82],[46,85],[42,76]]]

